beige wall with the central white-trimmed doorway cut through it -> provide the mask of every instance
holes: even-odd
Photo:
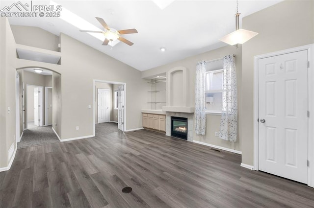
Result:
[[[127,84],[126,128],[140,128],[147,91],[141,72],[65,34],[61,46],[62,139],[93,135],[94,115],[88,105],[93,105],[94,79]]]

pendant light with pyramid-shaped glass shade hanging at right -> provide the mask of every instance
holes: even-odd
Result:
[[[236,47],[238,44],[243,44],[259,34],[250,30],[239,29],[239,16],[241,13],[238,13],[238,5],[238,0],[236,0],[235,31],[219,39],[222,42]]]

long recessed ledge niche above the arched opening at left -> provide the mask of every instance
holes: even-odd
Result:
[[[61,65],[61,53],[57,51],[17,44],[16,53],[18,59]]]

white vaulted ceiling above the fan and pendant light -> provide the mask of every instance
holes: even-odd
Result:
[[[239,0],[241,19],[282,0]],[[14,1],[1,0],[0,6]],[[29,1],[22,1],[29,2]],[[50,5],[52,2],[32,1]],[[185,57],[200,54],[226,44],[218,39],[235,30],[235,0],[54,0],[63,11],[103,30],[95,17],[101,17],[117,30],[136,28],[138,34],[123,37],[134,43],[102,46],[101,40],[79,32],[71,23],[57,17],[10,17],[10,24],[38,26],[55,35],[65,33],[138,70],[151,69]],[[164,7],[164,8],[163,8]],[[72,18],[73,19],[73,18]],[[81,19],[77,18],[80,22]],[[73,20],[72,20],[73,21]],[[241,27],[241,24],[240,24]],[[164,52],[160,47],[165,47]]]

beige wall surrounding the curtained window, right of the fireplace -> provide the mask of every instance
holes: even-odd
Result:
[[[176,61],[161,67],[157,67],[154,69],[149,69],[142,72],[142,77],[150,77],[157,74],[164,73],[170,69],[173,69],[175,67],[185,67],[188,69],[188,82],[189,82],[189,91],[187,99],[189,106],[195,105],[195,70],[196,70],[196,62],[198,61],[209,61],[213,59],[222,58],[225,55],[229,54],[235,54],[235,63],[236,63],[236,78],[237,78],[237,92],[238,92],[238,138],[236,142],[230,142],[225,141],[223,139],[219,139],[218,137],[215,137],[215,132],[219,131],[219,125],[220,125],[220,116],[216,115],[207,115],[207,129],[206,129],[206,135],[205,136],[198,136],[195,134],[193,135],[193,139],[196,141],[202,141],[205,143],[235,149],[238,151],[241,151],[241,142],[242,142],[242,133],[241,133],[241,61],[242,61],[242,55],[241,55],[241,47],[235,48],[234,46],[225,46],[218,49],[214,49],[196,56],[191,56],[188,58],[185,58],[180,61]],[[169,93],[169,92],[167,92]],[[194,121],[195,122],[195,121]]]

